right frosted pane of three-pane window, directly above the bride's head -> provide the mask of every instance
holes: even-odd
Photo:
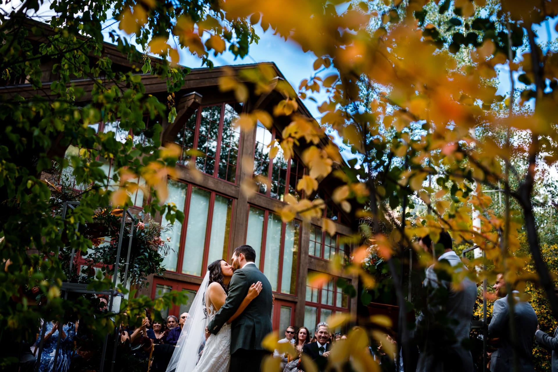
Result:
[[[208,265],[218,259],[227,259],[232,205],[232,199],[221,195],[215,195],[213,220],[211,221],[211,236],[209,237]],[[205,274],[205,269],[203,271]]]

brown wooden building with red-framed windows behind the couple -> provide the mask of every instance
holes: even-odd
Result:
[[[115,69],[138,72],[146,94],[166,101],[165,81],[134,70],[134,66],[110,44],[105,44],[103,56],[112,59]],[[45,61],[44,86],[49,86],[52,80],[50,69],[54,62]],[[285,80],[275,64],[267,65],[273,70],[274,79]],[[311,287],[307,281],[312,272],[327,273],[334,254],[349,256],[351,248],[346,237],[352,233],[355,222],[351,215],[330,201],[333,190],[339,185],[339,181],[331,175],[321,181],[318,192],[306,197],[320,197],[326,201],[324,216],[334,220],[335,236],[331,237],[321,229],[321,221],[302,224],[301,220],[295,219],[283,223],[280,216],[274,213],[283,205],[283,195],[287,192],[300,195],[296,191],[296,182],[305,172],[300,160],[304,144],[295,148],[294,158],[287,160],[280,151],[270,161],[267,144],[280,138],[282,129],[290,120],[287,117],[275,118],[272,129],[258,124],[252,132],[244,133],[235,129],[233,122],[240,113],[244,110],[249,112],[255,104],[271,113],[283,97],[277,91],[256,95],[252,89],[247,101],[239,103],[235,102],[232,93],[223,93],[218,88],[219,78],[228,71],[238,73],[256,67],[258,65],[248,64],[191,70],[184,86],[175,95],[175,122],[160,120],[163,143],[174,142],[184,150],[177,180],[168,181],[167,202],[174,202],[183,209],[185,219],[182,224],[176,223],[170,233],[172,252],[165,258],[165,274],[150,277],[150,286],[142,293],[157,297],[165,291],[177,289],[186,291],[191,301],[209,263],[220,258],[230,262],[235,247],[249,244],[256,250],[256,264],[270,279],[275,293],[273,328],[282,332],[288,325],[305,325],[313,332],[317,322],[324,321],[335,312],[351,312],[356,316],[357,299],[341,293],[336,287],[336,278],[319,288]],[[80,79],[74,83],[86,92],[82,100],[86,102],[90,99],[87,92],[93,88],[92,81]],[[25,83],[25,79],[0,87],[2,94],[16,91],[23,96],[37,94]],[[300,100],[298,104],[298,113],[311,118]],[[153,123],[147,122],[146,125],[148,130]],[[128,135],[133,136],[134,141],[146,141],[141,133],[134,135],[122,131],[118,122],[101,122],[93,127],[98,132],[113,131],[117,140],[123,142]],[[328,141],[324,137],[320,146],[325,146]],[[192,156],[192,149],[205,156]],[[247,157],[253,159],[253,171],[249,164],[240,161]],[[194,164],[200,171],[197,175],[189,171]],[[105,172],[107,187],[110,187],[113,169],[108,161],[105,162]],[[244,178],[252,178],[254,174],[267,178],[268,182],[267,185],[260,182],[259,192],[247,197],[240,190],[240,185]],[[141,209],[146,199],[147,196],[140,191],[133,196],[134,205]],[[165,224],[165,220],[161,223]],[[357,286],[354,278],[345,279]],[[187,311],[189,305],[176,306],[164,312],[178,316]]]

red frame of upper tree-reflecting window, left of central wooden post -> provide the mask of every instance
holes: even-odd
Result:
[[[201,125],[201,112],[203,111],[204,108],[206,107],[212,107],[212,106],[221,106],[221,113],[219,116],[219,131],[218,131],[218,135],[217,135],[217,149],[215,150],[215,165],[213,167],[213,174],[210,175],[209,173],[205,173],[204,174],[210,176],[210,177],[214,177],[214,178],[219,178],[219,162],[220,162],[220,157],[221,157],[221,142],[223,139],[223,125],[224,125],[224,117],[225,117],[225,106],[229,104],[234,108],[234,105],[238,104],[237,102],[222,102],[222,103],[214,103],[214,104],[207,104],[207,105],[203,105],[200,106],[196,112],[196,121],[195,121],[195,127],[194,127],[194,144],[192,146],[193,149],[197,149],[198,148],[198,144],[199,144],[199,138],[200,138],[200,125]],[[187,122],[184,124],[186,125]],[[191,129],[190,129],[191,130]],[[184,143],[178,143],[181,147],[182,147],[182,153],[184,153]],[[234,172],[234,182],[230,182],[228,180],[225,180],[224,178],[219,178],[219,180],[228,182],[232,185],[236,185],[238,182],[238,154],[240,153],[240,146],[242,146],[242,131],[239,132],[239,139],[238,139],[238,153],[237,153],[237,166],[236,166],[236,170]],[[189,164],[195,164],[196,163],[196,156],[195,154],[193,156],[191,156],[191,158],[188,161]],[[184,163],[182,162],[182,156],[179,160],[179,162],[177,163],[178,165],[182,166],[182,167],[186,167],[186,165],[184,165]],[[229,167],[229,162],[227,161],[227,172],[228,172],[228,167]]]

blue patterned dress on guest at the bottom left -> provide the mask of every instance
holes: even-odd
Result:
[[[52,322],[46,323],[45,335],[47,335],[52,330],[52,327],[54,327]],[[70,362],[74,353],[75,324],[65,324],[63,329],[66,337],[60,340],[60,349],[58,350],[58,357],[56,359],[56,368],[54,367],[54,355],[56,352],[58,337],[60,335],[58,330],[56,330],[48,339],[45,340],[45,345],[42,349],[41,354],[41,365],[39,371],[67,372],[70,370]],[[37,339],[37,347],[39,347],[40,342],[41,337],[39,336],[39,339]]]

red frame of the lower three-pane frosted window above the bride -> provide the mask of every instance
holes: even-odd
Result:
[[[179,180],[175,180],[176,182],[182,182]],[[194,186],[191,183],[188,182],[182,182],[185,183],[187,185],[187,190],[186,190],[186,200],[184,201],[185,205],[184,205],[184,221],[182,222],[182,226],[181,226],[181,231],[180,231],[180,245],[179,245],[179,251],[178,251],[178,258],[177,258],[177,262],[176,262],[176,271],[174,270],[170,270],[167,269],[168,272],[171,273],[177,273],[177,274],[181,274],[181,275],[185,275],[185,276],[189,276],[189,277],[195,277],[195,278],[203,278],[205,276],[205,271],[203,270],[203,268],[206,268],[208,265],[208,257],[209,257],[209,241],[210,239],[208,239],[211,235],[211,224],[213,223],[213,207],[215,204],[215,195],[220,195],[223,197],[226,197],[227,199],[232,200],[232,204],[230,205],[230,225],[229,225],[229,231],[232,231],[232,226],[233,226],[233,220],[234,220],[234,211],[235,211],[235,202],[236,200],[233,199],[230,196],[221,194],[220,192],[216,192],[213,190],[209,190],[206,189],[205,187],[199,187],[199,186]],[[184,260],[184,244],[186,243],[186,234],[188,233],[187,231],[187,227],[188,227],[188,219],[190,217],[190,200],[191,200],[191,196],[192,196],[192,190],[193,187],[197,187],[198,189],[201,190],[205,190],[205,191],[209,191],[210,197],[209,197],[209,210],[208,210],[208,216],[207,216],[207,223],[205,225],[205,240],[204,240],[204,253],[203,253],[203,259],[201,261],[201,267],[202,267],[202,272],[201,275],[198,276],[193,276],[190,274],[184,274],[182,273],[182,261]],[[227,243],[227,252],[230,251],[230,235],[229,235],[229,239],[228,239],[228,243]]]

